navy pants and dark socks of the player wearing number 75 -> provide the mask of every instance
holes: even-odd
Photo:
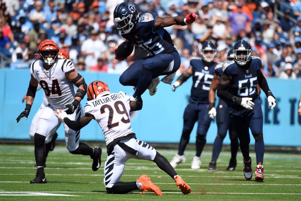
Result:
[[[201,104],[193,100],[189,100],[185,108],[184,126],[181,140],[179,143],[178,155],[183,155],[184,150],[189,142],[190,133],[196,121],[198,121],[198,129],[196,136],[196,156],[200,156],[206,144],[206,134],[209,129],[211,119],[208,115],[208,104]]]

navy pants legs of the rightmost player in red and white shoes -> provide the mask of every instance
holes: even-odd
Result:
[[[264,155],[263,115],[259,96],[254,103],[255,105],[252,111],[242,116],[230,115],[230,121],[233,129],[237,132],[240,149],[246,161],[249,160],[249,128],[251,129],[252,135],[255,138],[256,162],[258,163],[263,162]]]

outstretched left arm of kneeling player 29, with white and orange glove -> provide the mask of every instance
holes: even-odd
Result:
[[[86,113],[85,116],[81,117],[79,120],[72,121],[67,117],[67,113],[65,111],[62,111],[61,109],[55,111],[55,116],[61,122],[65,122],[69,128],[75,131],[79,131],[83,127],[87,126],[92,119],[95,119],[95,117],[92,114]]]

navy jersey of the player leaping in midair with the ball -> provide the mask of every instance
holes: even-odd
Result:
[[[152,12],[141,14],[133,28],[135,33],[131,31],[128,34],[122,34],[122,37],[149,52],[150,56],[175,52],[176,48],[173,46],[169,33],[164,28],[154,30],[156,18],[157,15]]]

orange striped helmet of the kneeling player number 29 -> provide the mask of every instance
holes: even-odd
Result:
[[[104,96],[109,95],[110,93],[111,92],[108,85],[102,81],[97,80],[89,84],[87,90],[87,100],[94,100],[97,98],[98,95]]]

